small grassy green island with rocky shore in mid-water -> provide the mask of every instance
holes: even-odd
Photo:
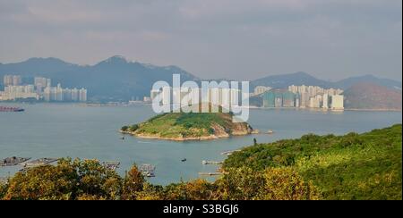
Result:
[[[161,113],[120,132],[139,138],[208,140],[253,133],[246,122],[232,122],[232,113]]]

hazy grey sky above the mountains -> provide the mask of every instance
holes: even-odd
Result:
[[[401,81],[401,0],[0,0],[0,63],[112,55],[201,78]]]

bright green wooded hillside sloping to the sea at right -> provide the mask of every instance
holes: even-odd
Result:
[[[346,136],[305,135],[246,147],[224,168],[292,167],[327,199],[401,199],[401,125]]]

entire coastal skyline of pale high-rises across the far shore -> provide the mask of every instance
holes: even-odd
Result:
[[[52,87],[52,80],[43,77],[35,77],[33,84],[23,84],[20,75],[4,75],[4,91],[0,91],[0,101],[37,100],[45,102],[88,102],[88,91],[85,88],[62,88],[60,83]],[[194,96],[193,93],[197,96]],[[172,88],[150,90],[150,96],[136,97],[129,100],[129,104],[150,104],[159,96],[162,105],[173,104],[172,99],[179,97],[180,102],[191,96],[198,98],[199,103],[208,103],[228,107],[230,104],[239,105],[242,101],[241,91],[236,88],[209,88],[206,97],[202,98],[201,88],[189,88],[186,92],[176,93]],[[270,88],[257,86],[250,90],[248,97],[259,96],[265,108],[309,108],[323,110],[344,110],[343,90],[340,88],[322,88],[318,86],[288,86],[287,88]],[[236,98],[236,100],[234,100]],[[232,100],[231,100],[232,99]],[[187,100],[192,105],[191,100]],[[249,101],[248,101],[249,102]],[[246,105],[244,105],[246,106]],[[250,105],[247,105],[250,106]]]

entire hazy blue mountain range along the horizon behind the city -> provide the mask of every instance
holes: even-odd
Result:
[[[182,81],[200,81],[190,72],[176,66],[130,62],[118,55],[95,65],[66,63],[57,58],[30,58],[21,63],[0,63],[1,79],[5,74],[21,75],[27,82],[32,82],[37,76],[47,77],[52,79],[54,86],[60,82],[65,88],[88,88],[90,99],[93,101],[127,101],[136,96],[150,96],[150,89],[155,81],[170,82],[174,73],[180,73]],[[379,79],[372,75],[331,82],[317,79],[306,72],[295,72],[253,80],[251,91],[256,86],[287,88],[290,85],[312,85],[346,90],[363,82],[400,92],[402,87],[399,81]],[[3,88],[3,83],[0,82],[0,84],[0,88]]]

